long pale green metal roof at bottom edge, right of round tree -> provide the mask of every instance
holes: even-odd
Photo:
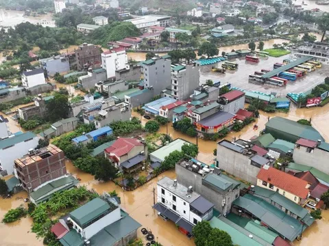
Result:
[[[262,246],[260,243],[254,241],[254,239],[249,238],[249,236],[243,234],[243,232],[241,232],[243,228],[241,228],[241,230],[238,230],[237,228],[234,228],[232,225],[229,225],[228,223],[225,223],[224,221],[216,217],[212,217],[209,223],[212,228],[218,228],[219,230],[228,232],[228,234],[230,234],[232,238],[232,242],[234,243],[234,245]]]

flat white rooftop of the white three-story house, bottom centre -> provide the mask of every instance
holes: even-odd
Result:
[[[194,202],[199,198],[199,194],[196,193],[195,191],[193,192],[188,192],[187,187],[184,187],[184,185],[177,183],[176,186],[173,184],[173,180],[171,180],[168,177],[164,177],[161,180],[158,181],[158,185],[160,187],[163,187],[164,189],[167,189],[174,195],[177,195],[178,197],[182,198],[182,200],[188,202],[191,204],[191,202]]]

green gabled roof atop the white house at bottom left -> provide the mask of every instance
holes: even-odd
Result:
[[[110,210],[110,205],[97,197],[83,206],[80,206],[80,208],[75,209],[70,215],[75,222],[83,227],[86,223],[99,217],[99,215],[106,213],[107,210]]]

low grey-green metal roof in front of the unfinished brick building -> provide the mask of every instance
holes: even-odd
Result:
[[[49,197],[53,195],[53,193],[63,191],[65,189],[70,189],[72,187],[75,187],[78,183],[79,181],[73,176],[63,177],[40,187],[39,189],[30,193],[29,196],[32,197],[36,204],[38,204],[40,202],[48,200]]]

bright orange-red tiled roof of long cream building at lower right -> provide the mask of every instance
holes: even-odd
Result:
[[[301,198],[306,198],[309,192],[306,188],[308,182],[274,167],[260,169],[257,178]]]

